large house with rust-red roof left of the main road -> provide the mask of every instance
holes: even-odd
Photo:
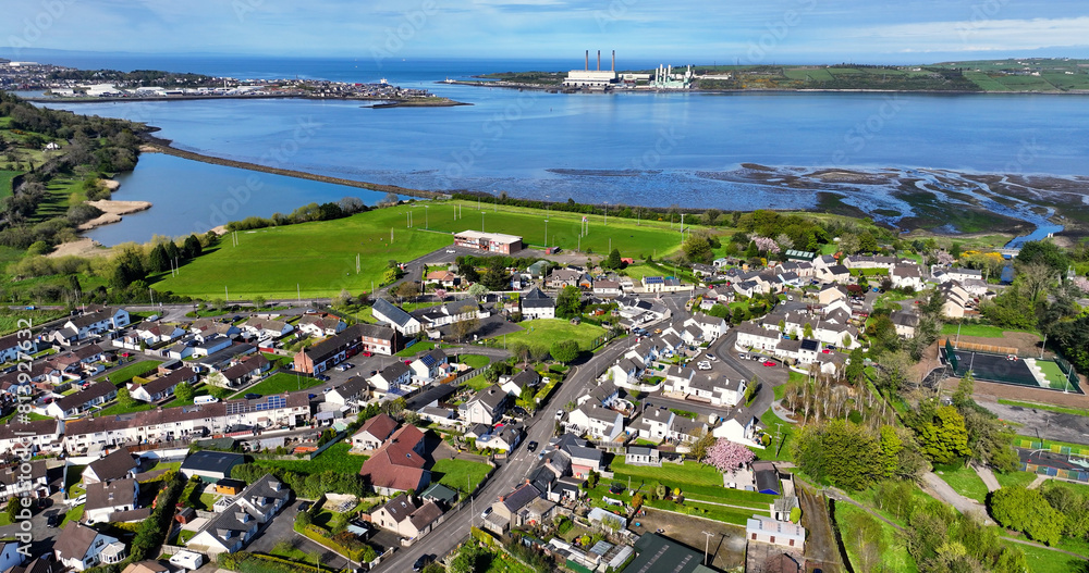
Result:
[[[431,483],[431,472],[424,469],[424,433],[405,425],[363,463],[359,475],[382,496],[420,491]]]

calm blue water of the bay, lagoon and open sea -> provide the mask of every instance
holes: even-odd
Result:
[[[64,105],[82,113],[147,122],[162,128],[158,135],[184,149],[427,189],[504,190],[512,196],[611,204],[808,208],[816,204],[815,190],[733,183],[723,180],[722,174],[751,162],[1086,175],[1084,160],[1089,157],[1089,98],[1085,97],[549,95],[435,84],[484,72],[570,68],[580,66],[580,58],[568,62],[382,62],[381,67],[369,59],[59,63],[169,67],[235,77],[298,74],[352,82],[386,77],[473,103],[388,110],[366,109],[362,102],[273,100]],[[621,67],[656,63],[621,61]],[[215,204],[221,190],[231,186],[213,180],[220,175],[206,171],[210,167],[149,159],[145,157],[125,182],[125,194],[159,204],[163,196],[181,192],[191,201]],[[194,183],[161,185],[164,164],[186,173],[181,182]],[[259,204],[250,201],[253,214],[290,211],[315,200],[317,191],[308,182],[283,185],[283,192],[261,192]],[[209,195],[207,189],[219,191]],[[332,195],[357,194],[353,189]],[[848,200],[860,207],[873,207],[874,201],[880,198]],[[188,217],[187,228],[203,223],[208,210],[204,205],[199,216],[182,215]],[[168,217],[179,217],[179,213],[162,211],[152,209],[146,216],[162,224]],[[132,236],[110,231],[125,238],[146,238],[135,224],[114,227],[126,225],[133,228]],[[110,233],[107,228],[96,233],[105,237]]]

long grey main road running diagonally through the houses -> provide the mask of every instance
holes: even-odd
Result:
[[[474,498],[476,502],[469,507],[463,506],[461,510],[450,514],[446,521],[439,524],[420,543],[399,550],[391,559],[379,564],[375,571],[397,573],[411,571],[412,564],[421,555],[432,553],[441,557],[453,551],[468,536],[472,525],[480,525],[480,511],[484,511],[484,508],[490,506],[499,496],[509,493],[515,484],[522,482],[537,463],[537,454],[526,450],[525,444],[537,441],[543,447],[552,437],[555,428],[555,410],[594,388],[597,374],[612,364],[631,346],[628,339],[610,342],[585,364],[576,366],[572,375],[560,385],[551,403],[542,407],[537,415],[526,422],[527,432],[523,445],[515,449],[510,459],[502,462],[492,477],[477,493]]]

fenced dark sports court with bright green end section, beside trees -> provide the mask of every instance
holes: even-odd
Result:
[[[1054,360],[1021,358],[1016,349],[987,347],[995,350],[1012,350],[992,353],[982,350],[983,345],[960,342],[954,345],[946,339],[942,358],[952,366],[954,376],[964,376],[971,371],[976,379],[1014,384],[1044,389],[1081,394],[1078,375],[1069,362],[1062,358]]]

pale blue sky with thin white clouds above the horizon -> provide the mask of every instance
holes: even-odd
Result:
[[[19,51],[578,62],[588,48],[700,63],[1089,55],[1085,0],[9,0],[4,12],[0,46]]]

